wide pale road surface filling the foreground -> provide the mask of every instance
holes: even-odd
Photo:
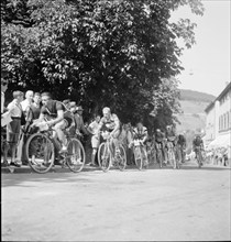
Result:
[[[2,174],[2,240],[230,240],[229,168]]]

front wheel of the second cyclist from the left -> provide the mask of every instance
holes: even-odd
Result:
[[[107,145],[107,143],[101,143],[99,145],[99,150],[98,150],[98,163],[99,163],[99,166],[100,168],[106,173],[109,170],[110,168],[110,151],[109,151],[109,147]]]

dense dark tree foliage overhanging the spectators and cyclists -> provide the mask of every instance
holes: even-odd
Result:
[[[48,90],[88,113],[110,106],[128,122],[157,110],[155,122],[173,122],[176,40],[195,43],[194,23],[169,22],[184,4],[202,14],[199,0],[4,0],[2,68],[12,88]]]

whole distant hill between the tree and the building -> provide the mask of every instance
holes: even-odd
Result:
[[[183,113],[177,114],[180,124],[178,131],[205,130],[206,107],[216,99],[215,96],[205,92],[180,89],[180,107]]]

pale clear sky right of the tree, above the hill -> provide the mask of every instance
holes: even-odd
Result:
[[[197,23],[196,44],[185,50],[180,62],[185,70],[177,76],[179,88],[219,96],[230,82],[231,58],[231,0],[202,0],[204,15],[182,7],[172,20],[188,18]],[[180,44],[180,42],[179,42]]]

